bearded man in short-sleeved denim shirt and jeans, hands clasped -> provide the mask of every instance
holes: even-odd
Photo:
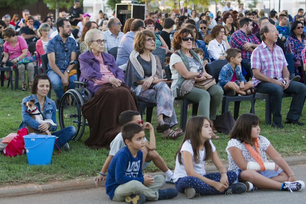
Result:
[[[64,95],[63,88],[74,89],[76,87],[73,80],[76,80],[76,74],[69,76],[69,72],[74,68],[69,65],[69,61],[76,59],[76,43],[74,39],[69,38],[72,28],[67,19],[61,19],[56,22],[58,35],[50,39],[47,45],[48,70],[52,88],[58,99]]]

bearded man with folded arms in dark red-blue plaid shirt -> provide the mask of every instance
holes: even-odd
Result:
[[[235,31],[230,38],[230,47],[241,50],[242,72],[246,75],[246,80],[248,80],[251,76],[248,69],[248,63],[250,62],[252,51],[260,44],[260,42],[257,37],[252,34],[252,19],[247,17],[241,18],[239,21],[239,27],[240,29]]]

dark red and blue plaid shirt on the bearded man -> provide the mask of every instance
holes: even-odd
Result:
[[[254,34],[246,35],[243,31],[237,30],[230,37],[230,47],[241,50],[241,58],[250,59],[252,52],[242,49],[242,46],[245,44],[244,41],[247,41],[248,43],[260,44],[258,38]]]

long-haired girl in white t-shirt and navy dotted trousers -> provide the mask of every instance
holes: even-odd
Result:
[[[186,124],[185,137],[177,150],[174,169],[175,187],[187,198],[196,194],[233,194],[244,193],[242,183],[232,184],[237,175],[227,172],[215,146],[211,142],[212,130],[205,116],[190,118]],[[206,174],[205,161],[211,159],[218,173]]]

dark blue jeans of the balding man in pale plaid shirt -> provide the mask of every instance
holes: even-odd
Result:
[[[306,85],[304,83],[291,81],[287,89],[270,82],[261,82],[256,86],[256,90],[262,94],[271,95],[271,110],[274,123],[282,122],[282,98],[284,93],[294,94],[287,118],[298,121],[305,102]]]

